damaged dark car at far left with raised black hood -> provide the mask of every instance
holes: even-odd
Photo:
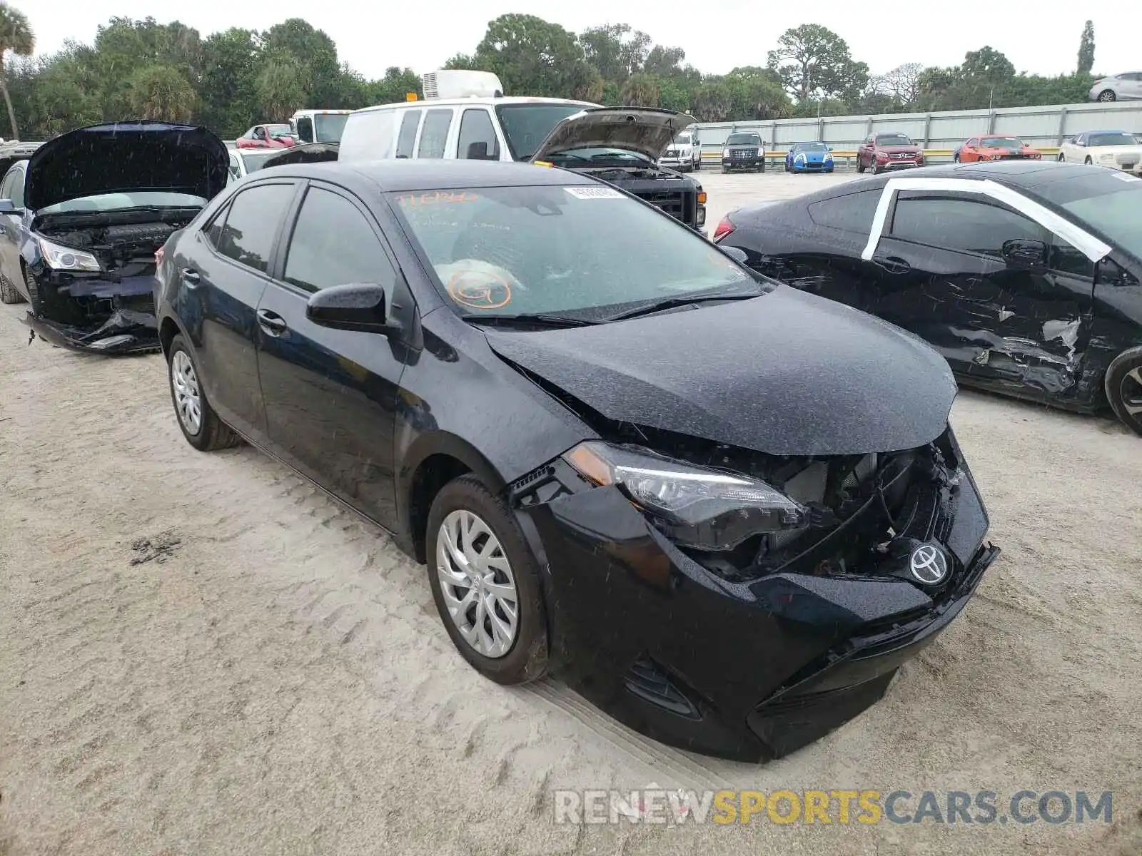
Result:
[[[115,122],[64,134],[8,171],[0,298],[41,338],[102,354],[158,349],[155,252],[226,186],[206,128]]]

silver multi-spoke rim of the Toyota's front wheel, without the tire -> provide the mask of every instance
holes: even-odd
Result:
[[[502,544],[472,511],[458,509],[441,522],[436,575],[464,640],[485,657],[505,656],[520,631],[520,596]]]

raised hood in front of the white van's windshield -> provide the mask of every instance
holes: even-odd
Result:
[[[588,107],[555,126],[531,160],[571,148],[621,148],[657,161],[697,121],[687,113],[656,107]]]

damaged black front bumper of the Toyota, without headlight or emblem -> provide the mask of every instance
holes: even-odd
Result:
[[[894,514],[870,498],[795,562],[733,581],[619,487],[553,487],[560,466],[509,488],[545,571],[556,672],[628,726],[724,758],[780,758],[875,703],[999,552],[983,542],[987,512],[964,466],[952,486],[920,485]],[[944,550],[940,588],[901,573],[899,551],[876,549],[882,514],[899,526],[888,548]],[[847,573],[822,558],[854,544],[864,559]]]

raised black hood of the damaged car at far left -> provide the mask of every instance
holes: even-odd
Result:
[[[152,120],[80,128],[40,146],[27,162],[32,211],[100,193],[164,191],[211,199],[226,186],[226,144],[206,128]]]

